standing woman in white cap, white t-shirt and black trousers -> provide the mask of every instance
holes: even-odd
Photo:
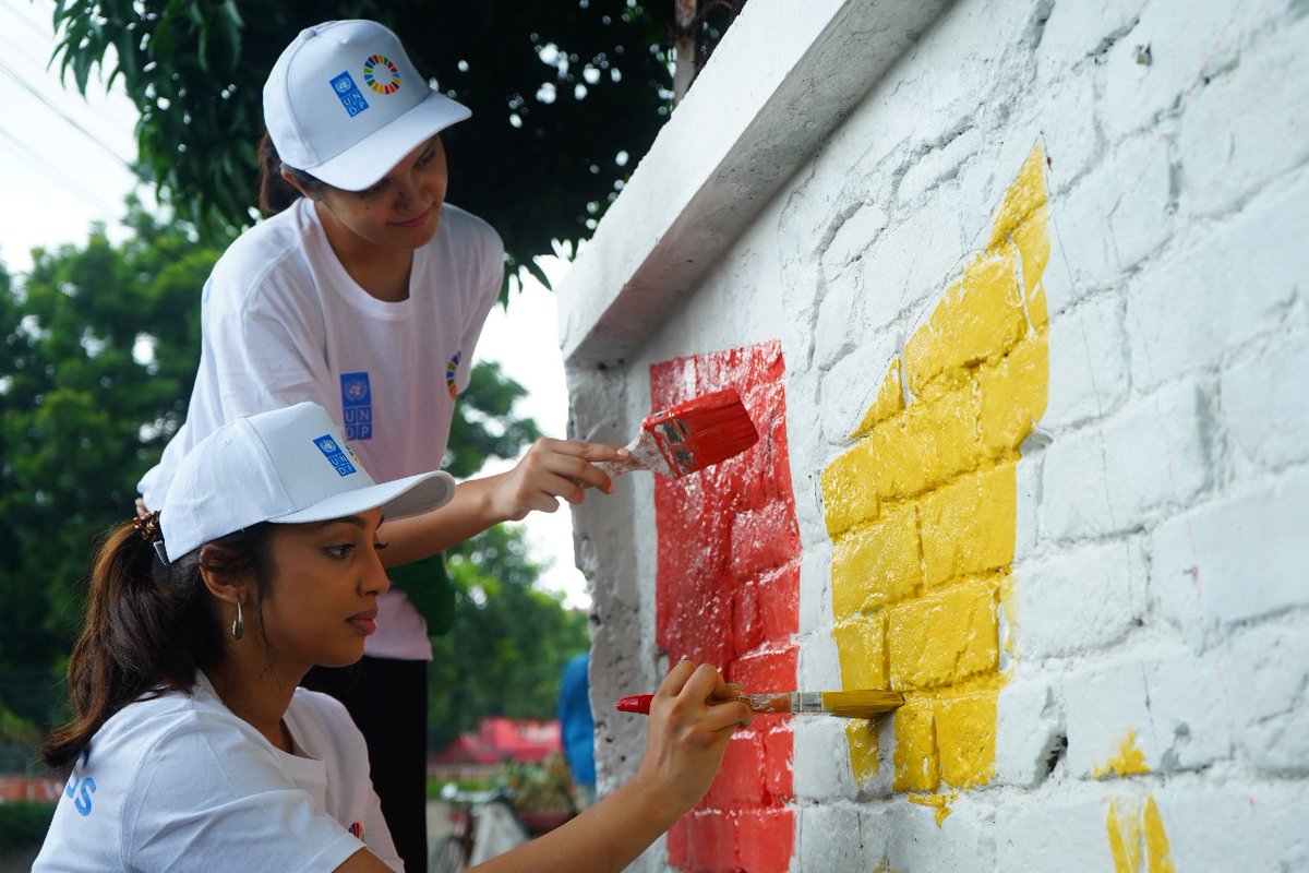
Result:
[[[309,27],[264,86],[260,202],[276,213],[237,240],[206,284],[203,352],[186,425],[141,480],[162,505],[178,462],[233,418],[313,401],[380,480],[441,465],[456,397],[501,280],[504,249],[445,203],[440,131],[469,110],[431,88],[372,21]],[[493,171],[493,168],[487,168]],[[512,471],[462,483],[450,505],[387,524],[387,565],[424,559],[528,512],[610,491],[590,461],[613,446],[542,440]],[[411,593],[418,597],[421,592]],[[401,855],[425,853],[427,624],[398,588],[340,687],[364,730]]]

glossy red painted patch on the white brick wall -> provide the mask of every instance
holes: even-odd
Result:
[[[654,480],[656,639],[670,662],[715,664],[751,691],[796,687],[800,530],[787,458],[781,343],[651,366],[651,403],[734,387],[759,442],[682,479]],[[669,861],[702,873],[783,873],[795,848],[789,716],[737,732],[700,805],[669,832]]]

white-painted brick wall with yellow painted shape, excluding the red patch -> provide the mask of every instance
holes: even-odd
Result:
[[[787,865],[1309,869],[1309,5],[806,9],[751,0],[560,292],[585,436],[780,349],[778,645],[907,700],[792,721]],[[657,495],[577,513],[597,712],[675,648]]]

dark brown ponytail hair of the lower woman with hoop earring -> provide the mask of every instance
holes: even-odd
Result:
[[[190,691],[196,670],[223,662],[225,631],[200,579],[202,561],[212,572],[253,571],[262,603],[271,576],[271,533],[270,522],[253,525],[168,565],[132,524],[109,533],[68,660],[73,717],[42,743],[47,764],[72,764],[115,712],[134,700]]]

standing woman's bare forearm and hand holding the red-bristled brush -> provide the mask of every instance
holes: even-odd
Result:
[[[592,462],[622,461],[627,454],[601,442],[537,440],[512,470],[459,483],[445,507],[384,524],[382,561],[398,567],[421,560],[501,521],[518,521],[531,510],[555,512],[559,499],[581,503],[585,486],[611,493],[609,476]]]

